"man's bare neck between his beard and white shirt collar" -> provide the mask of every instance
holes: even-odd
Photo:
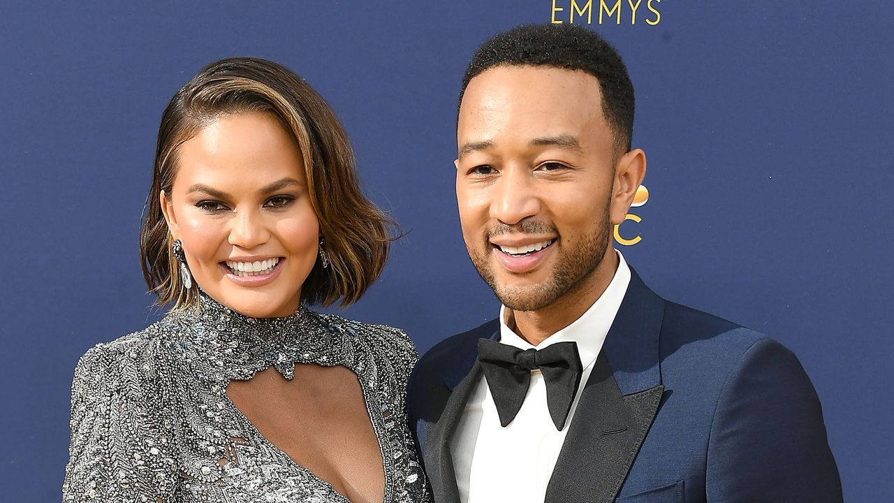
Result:
[[[548,306],[537,311],[509,311],[507,325],[531,345],[539,345],[552,334],[578,320],[599,300],[618,270],[618,254],[609,248],[587,277]]]

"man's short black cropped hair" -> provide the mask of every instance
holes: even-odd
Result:
[[[503,64],[553,66],[593,75],[603,93],[603,116],[615,146],[626,152],[633,136],[634,92],[620,55],[595,31],[574,24],[523,24],[478,47],[462,77],[460,104],[468,82]]]

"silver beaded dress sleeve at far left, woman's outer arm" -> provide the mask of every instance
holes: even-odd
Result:
[[[143,389],[151,379],[140,373],[137,350],[119,346],[97,345],[74,371],[64,503],[172,500],[170,439],[147,434],[164,430],[148,419]]]

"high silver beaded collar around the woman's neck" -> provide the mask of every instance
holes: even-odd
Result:
[[[250,318],[202,292],[198,307],[181,311],[181,320],[203,359],[225,379],[251,379],[268,367],[293,379],[295,363],[345,362],[342,331],[304,303],[282,318]]]

